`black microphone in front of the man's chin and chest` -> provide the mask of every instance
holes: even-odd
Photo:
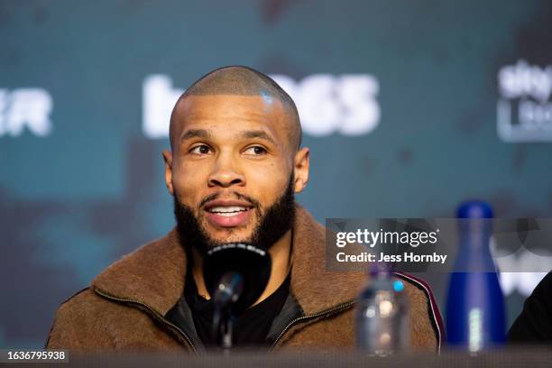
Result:
[[[222,244],[203,257],[203,278],[215,305],[213,334],[232,347],[232,322],[261,297],[271,276],[271,256],[252,244]]]

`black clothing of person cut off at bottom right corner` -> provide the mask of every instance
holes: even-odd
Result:
[[[552,273],[538,283],[525,300],[520,316],[508,332],[512,343],[552,342]]]

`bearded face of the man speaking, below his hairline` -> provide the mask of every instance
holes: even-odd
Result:
[[[281,102],[191,96],[173,117],[165,181],[182,240],[201,252],[238,242],[271,247],[290,230],[308,168],[297,166]]]

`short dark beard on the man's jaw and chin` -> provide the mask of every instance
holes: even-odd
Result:
[[[253,230],[253,235],[249,239],[239,239],[232,243],[252,244],[258,248],[268,250],[272,244],[276,243],[291,229],[295,222],[293,181],[292,176],[285,192],[264,213],[261,213],[258,201],[249,198],[255,206],[253,208],[259,210],[260,218]],[[244,198],[243,195],[238,195],[238,197]],[[210,200],[212,199],[215,198],[210,198]],[[173,204],[180,243],[185,246],[187,252],[190,251],[188,245],[197,249],[201,255],[204,255],[217,245],[228,243],[224,241],[216,242],[207,235],[205,229],[199,224],[198,218],[194,216],[193,210],[180,203],[176,193],[173,196]]]

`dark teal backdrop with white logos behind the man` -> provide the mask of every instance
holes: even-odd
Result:
[[[291,81],[320,222],[468,198],[552,216],[551,21],[548,1],[1,0],[0,346],[41,347],[64,299],[170,230],[167,106],[225,65]]]

